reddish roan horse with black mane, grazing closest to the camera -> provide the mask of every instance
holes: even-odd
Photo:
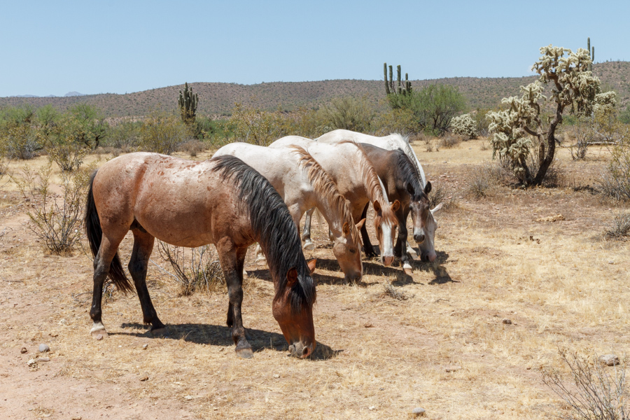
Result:
[[[314,261],[307,265],[304,260],[300,236],[280,195],[238,158],[193,162],[130,153],[110,160],[90,179],[85,227],[94,255],[92,337],[106,336],[101,311],[106,276],[120,290],[132,290],[118,257],[120,241],[131,230],[134,247],[128,267],[151,332],[165,330],[146,287],[155,238],[176,246],[215,244],[228,284],[228,326],[237,355],[253,356],[241,302],[247,247],[258,241],[274,281],[273,315],[291,353],[306,357],[314,350]]]

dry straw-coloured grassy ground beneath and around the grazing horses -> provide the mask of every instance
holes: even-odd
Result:
[[[540,368],[566,369],[559,346],[629,353],[630,243],[605,240],[615,213],[586,190],[500,187],[468,201],[465,181],[490,160],[491,151],[479,150],[482,141],[430,153],[414,144],[428,179],[458,205],[436,215],[438,258],[414,262],[412,276],[364,261],[363,281],[344,284],[326,231],[314,223],[319,247],[306,253],[319,259],[314,360],[286,357],[271,312],[273,286],[253,252],[243,303],[253,359],[235,356],[225,294],[181,297],[153,266],[149,290],[169,337],[151,337],[141,325],[136,296],[114,293],[104,305],[111,335],[93,341],[90,295],[80,295],[91,290],[90,258],[44,255],[21,224],[25,202],[8,185],[0,193],[7,195],[0,232],[11,229],[0,236],[0,357],[18,357],[27,370],[30,349],[45,340],[51,362],[33,374],[48,374],[42,378],[49,386],[70,379],[101,391],[118,387],[117,400],[146,407],[146,416],[162,415],[154,408],[161,407],[184,409],[191,419],[404,419],[424,407],[428,419],[551,418],[561,400],[542,383]],[[559,159],[565,172],[590,185],[606,165],[604,152],[574,164],[561,151]],[[555,214],[565,220],[536,221]],[[123,261],[130,251],[127,237]],[[384,281],[407,300],[382,297]],[[29,353],[20,355],[25,344]],[[55,409],[53,419],[58,413],[52,402],[38,409]],[[83,418],[106,412],[102,404],[90,406]]]

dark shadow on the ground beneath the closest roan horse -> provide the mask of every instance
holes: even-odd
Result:
[[[109,332],[109,335],[128,335],[132,337],[156,338],[147,325],[143,323],[123,323],[122,328],[132,328],[134,332]],[[265,349],[288,351],[288,344],[284,336],[276,332],[246,328],[245,335],[254,353]],[[183,339],[195,344],[209,344],[211,346],[234,347],[232,328],[227,325],[211,325],[202,323],[168,324],[167,334],[160,336],[166,339]],[[343,350],[333,350],[330,346],[317,342],[310,360],[328,360],[336,357]]]

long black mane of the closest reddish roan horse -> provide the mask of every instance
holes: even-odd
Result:
[[[239,158],[230,155],[212,158],[212,169],[221,179],[231,181],[239,191],[239,201],[249,214],[255,238],[265,253],[272,278],[277,281],[276,295],[283,293],[289,269],[297,269],[297,282],[291,290],[291,307],[299,312],[315,302],[315,283],[293,218],[282,197],[267,179]]]

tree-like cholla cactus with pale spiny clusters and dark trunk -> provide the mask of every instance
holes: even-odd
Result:
[[[566,106],[577,112],[590,115],[595,96],[600,91],[600,81],[588,70],[591,59],[589,52],[579,48],[573,52],[568,48],[548,45],[540,48],[542,56],[532,69],[540,78],[525,87],[522,96],[504,98],[507,110],[489,112],[493,156],[509,160],[514,175],[525,185],[540,185],[547,169],[554,160],[556,150],[556,128],[562,123]],[[544,85],[551,83],[552,96],[542,94]],[[547,125],[542,123],[541,109],[544,102],[552,102],[554,116]],[[538,171],[533,174],[528,167],[528,155],[537,147]]]

